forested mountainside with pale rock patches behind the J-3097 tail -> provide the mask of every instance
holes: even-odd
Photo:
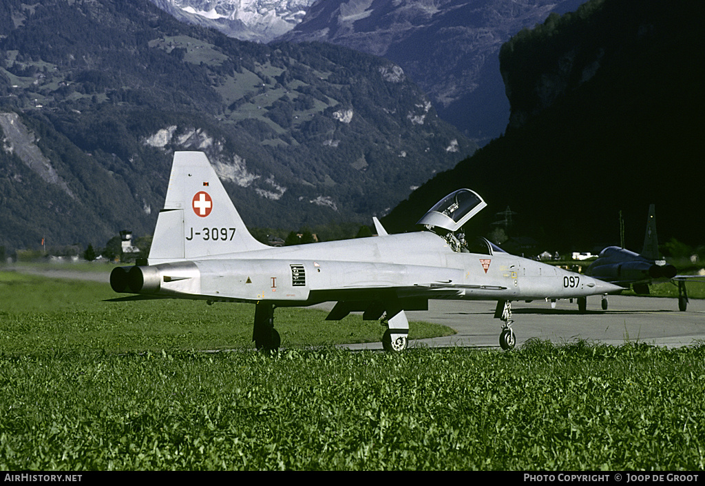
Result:
[[[0,1],[0,246],[151,234],[175,150],[257,227],[367,223],[477,146],[386,59],[264,45],[147,0]]]

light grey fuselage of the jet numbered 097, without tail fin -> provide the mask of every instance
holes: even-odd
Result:
[[[271,247],[114,271],[118,292],[310,305],[400,299],[535,300],[619,288],[507,253],[454,251],[433,232]],[[122,272],[122,273],[121,273]]]

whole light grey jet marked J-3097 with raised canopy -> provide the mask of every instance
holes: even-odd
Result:
[[[496,300],[499,342],[513,348],[510,302],[573,298],[620,290],[616,285],[505,253],[486,239],[472,251],[458,231],[486,203],[460,189],[419,220],[425,231],[379,233],[338,242],[268,247],[247,231],[206,156],[174,154],[164,209],[146,265],[115,268],[116,292],[154,297],[255,304],[252,340],[258,349],[281,343],[274,309],[336,302],[326,319],[350,312],[380,319],[386,350],[407,347],[405,311],[427,310],[429,299]]]

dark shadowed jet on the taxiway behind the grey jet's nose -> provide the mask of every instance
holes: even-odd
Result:
[[[685,280],[705,281],[694,275],[676,275],[675,266],[666,263],[658,253],[658,236],[656,235],[656,211],[654,205],[649,206],[649,217],[646,220],[646,235],[641,254],[620,247],[603,249],[598,259],[591,263],[585,272],[594,278],[620,285],[628,289],[630,285],[637,294],[649,294],[649,285],[656,282],[673,282],[678,285],[678,309],[685,311],[688,305],[688,294]],[[602,309],[607,309],[607,295],[602,296]],[[587,297],[578,299],[578,308],[584,312],[587,308]]]

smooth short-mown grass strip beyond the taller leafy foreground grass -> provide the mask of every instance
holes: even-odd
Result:
[[[105,271],[104,267],[97,266],[94,270]],[[80,266],[76,268],[86,271]],[[55,349],[78,352],[254,349],[255,307],[251,304],[207,305],[204,301],[172,299],[111,302],[125,295],[116,294],[107,283],[2,271],[0,291],[0,350],[9,355]],[[276,309],[276,328],[283,345],[305,348],[379,342],[384,333],[378,321],[363,321],[358,315],[325,321],[326,315],[317,309]],[[423,322],[412,322],[409,329],[412,339],[453,333],[446,326]]]

